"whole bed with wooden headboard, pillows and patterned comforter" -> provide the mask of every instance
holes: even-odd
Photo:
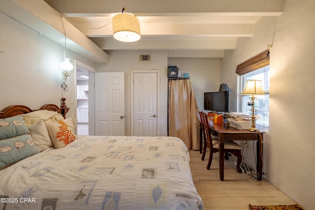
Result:
[[[0,210],[203,210],[182,140],[76,136],[61,114],[0,112]]]

